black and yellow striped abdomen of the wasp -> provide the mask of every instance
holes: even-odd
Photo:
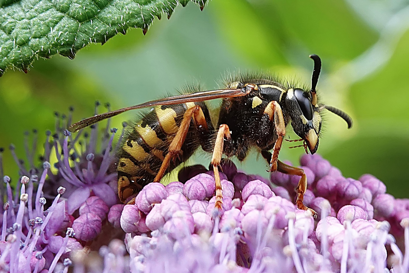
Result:
[[[146,184],[153,182],[185,111],[196,105],[202,108],[209,131],[213,131],[205,102],[155,106],[130,126],[118,152],[118,195],[122,202],[139,192]],[[186,161],[200,145],[203,145],[201,139],[203,137],[198,135],[191,121],[180,156],[175,162],[171,162],[168,172]]]

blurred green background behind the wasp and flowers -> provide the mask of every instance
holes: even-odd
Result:
[[[408,29],[408,0],[212,0],[204,11],[189,3],[170,20],[156,20],[146,36],[129,29],[74,60],[54,56],[35,61],[28,74],[7,71],[0,78],[0,147],[14,143],[23,158],[23,133],[36,128],[44,140],[54,111],[66,113],[72,105],[79,120],[92,115],[95,100],[119,108],[175,94],[186,83],[216,88],[226,71],[262,69],[309,85],[308,55],[315,53],[323,61],[322,101],[354,120],[347,130],[342,119],[326,114],[318,152],[344,176],[371,173],[389,193],[409,197]],[[133,116],[120,115],[113,124],[120,128]],[[280,158],[297,164],[303,148],[289,146]],[[207,165],[210,157],[195,161]],[[241,166],[263,176],[266,167],[256,154]],[[4,168],[17,177],[7,149]]]

